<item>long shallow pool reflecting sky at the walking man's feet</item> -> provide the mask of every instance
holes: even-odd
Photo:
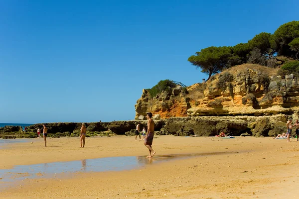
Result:
[[[52,178],[61,174],[76,172],[106,172],[137,169],[148,164],[162,163],[169,160],[181,160],[197,156],[220,155],[219,153],[173,154],[156,155],[152,158],[145,156],[109,157],[86,159],[80,161],[54,162],[35,165],[20,165],[13,169],[0,169],[0,182],[15,182],[29,178]]]

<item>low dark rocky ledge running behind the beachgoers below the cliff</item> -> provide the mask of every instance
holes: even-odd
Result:
[[[291,115],[278,114],[273,116],[197,116],[197,117],[170,117],[154,120],[155,134],[175,136],[215,136],[220,130],[227,135],[240,136],[241,134],[259,136],[275,136],[286,131],[285,124]],[[86,123],[88,136],[134,135],[136,125],[141,123],[141,129],[147,128],[147,120],[129,120],[112,122]],[[37,129],[43,124],[33,124],[27,127],[27,132],[21,132],[20,126],[0,127],[2,138],[34,138]],[[81,123],[59,122],[47,123],[48,136],[79,136]]]

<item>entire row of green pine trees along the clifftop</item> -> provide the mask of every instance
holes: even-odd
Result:
[[[207,80],[226,68],[247,62],[275,68],[284,63],[277,56],[299,59],[299,21],[281,25],[274,34],[257,34],[248,43],[234,47],[210,46],[195,54],[188,61],[207,74]]]

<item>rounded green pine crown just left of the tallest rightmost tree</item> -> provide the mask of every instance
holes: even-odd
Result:
[[[271,33],[261,32],[254,38],[248,41],[250,49],[258,48],[262,53],[266,54],[267,50],[271,47],[270,45]]]

